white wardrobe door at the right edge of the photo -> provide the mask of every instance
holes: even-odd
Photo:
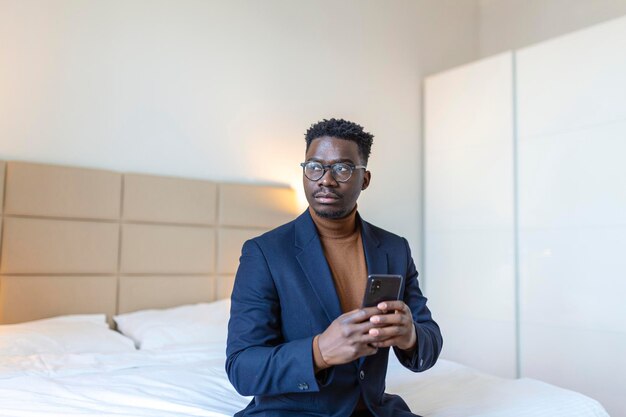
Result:
[[[517,53],[522,376],[626,416],[626,18]]]

